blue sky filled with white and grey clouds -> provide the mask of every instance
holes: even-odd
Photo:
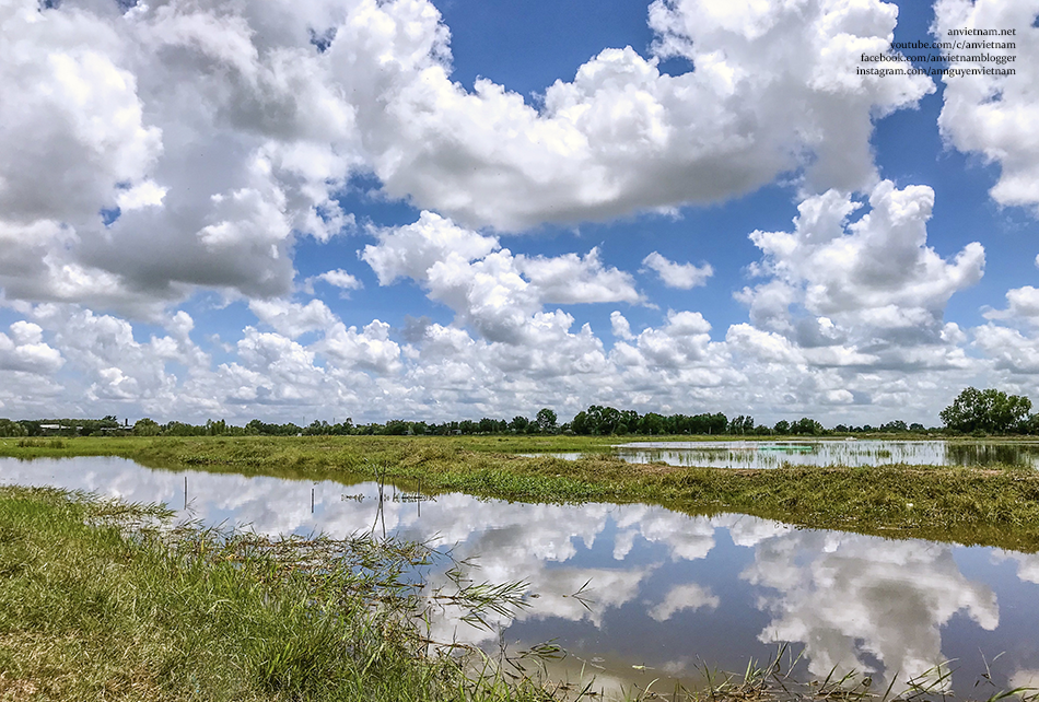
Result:
[[[0,417],[1039,403],[1037,15],[0,0]]]

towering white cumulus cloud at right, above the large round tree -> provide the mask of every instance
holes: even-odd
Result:
[[[764,255],[751,273],[768,281],[737,299],[759,328],[806,349],[831,349],[808,351],[816,362],[962,364],[943,316],[953,294],[981,279],[984,249],[971,243],[943,259],[927,245],[933,204],[931,188],[898,189],[886,180],[873,188],[869,211],[856,220],[862,203],[847,194],[809,197],[798,207],[794,231],[750,234]]]

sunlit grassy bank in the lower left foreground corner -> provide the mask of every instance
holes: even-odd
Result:
[[[0,699],[542,699],[429,653],[418,546],[127,529],[161,515],[0,488]]]

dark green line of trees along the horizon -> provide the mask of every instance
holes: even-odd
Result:
[[[224,420],[208,420],[205,424],[172,421],[160,424],[150,418],[138,420],[132,428],[119,424],[115,416],[103,419],[19,420],[0,419],[0,436],[62,435],[120,435],[137,436],[348,436],[348,435],[471,435],[471,434],[576,434],[583,436],[609,435],[727,435],[727,436],[820,436],[824,434],[931,432],[952,434],[1039,434],[1039,414],[1030,414],[1031,400],[1019,395],[1007,395],[989,388],[968,387],[952,405],[939,413],[943,426],[925,428],[920,423],[907,424],[892,420],[877,426],[871,424],[837,424],[826,429],[810,417],[780,420],[772,425],[761,424],[749,414],[728,418],[722,412],[700,414],[659,414],[635,410],[618,410],[592,405],[577,412],[570,422],[559,424],[559,417],[549,408],[540,409],[534,418],[517,416],[512,420],[491,419],[450,422],[424,422],[393,419],[385,423],[354,424],[351,419],[328,423],[314,420],[306,426],[292,422],[273,424],[254,419],[244,426]]]

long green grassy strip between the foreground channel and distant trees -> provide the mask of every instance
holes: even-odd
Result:
[[[816,528],[1039,551],[1039,472],[885,466],[735,470],[632,465],[602,437],[240,437],[5,440],[19,457],[117,455],[299,479],[384,478],[425,491],[523,501],[649,502],[690,514],[739,512]],[[615,441],[615,440],[614,440]],[[588,452],[581,460],[518,452]]]

